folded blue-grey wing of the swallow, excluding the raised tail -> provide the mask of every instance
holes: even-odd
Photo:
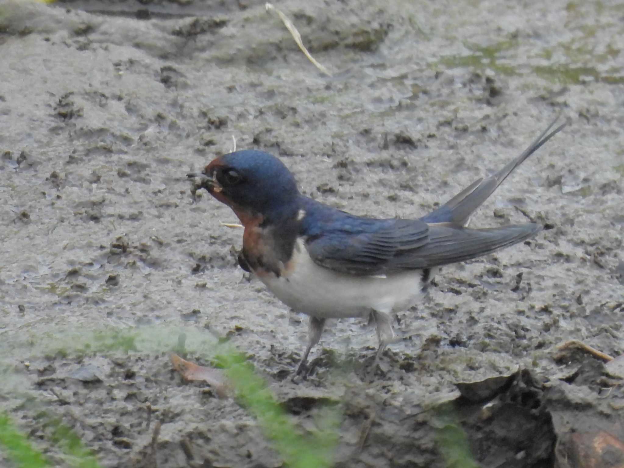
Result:
[[[324,205],[306,210],[300,235],[315,263],[351,275],[385,275],[470,260],[523,241],[541,228],[524,224],[467,229],[331,210]]]

